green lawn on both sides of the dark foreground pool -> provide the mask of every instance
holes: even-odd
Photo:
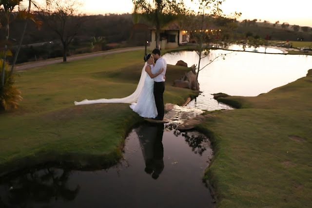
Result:
[[[142,118],[128,104],[73,102],[130,95],[143,53],[19,72],[17,86],[24,100],[16,111],[0,114],[0,174],[47,161],[92,168],[115,163],[127,131]],[[195,95],[171,86],[187,70],[168,65],[165,103],[182,104]],[[267,94],[222,101],[241,108],[215,112],[196,127],[210,136],[215,151],[205,179],[216,191],[217,207],[311,207],[312,70]]]

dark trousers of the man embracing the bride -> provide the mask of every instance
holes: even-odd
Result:
[[[159,120],[162,120],[165,114],[164,99],[163,99],[164,91],[165,91],[165,82],[154,82],[154,97],[158,113],[156,119]]]

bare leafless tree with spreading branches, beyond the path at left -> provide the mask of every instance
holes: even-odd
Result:
[[[44,25],[52,29],[63,45],[63,61],[69,44],[77,36],[82,25],[82,15],[78,8],[82,6],[80,0],[51,0],[45,8],[39,9],[39,17]]]

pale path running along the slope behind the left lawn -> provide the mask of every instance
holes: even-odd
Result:
[[[103,56],[103,55],[108,55],[108,54],[117,54],[117,53],[128,52],[128,51],[138,51],[138,50],[144,50],[144,49],[145,49],[145,47],[135,47],[135,48],[121,49],[121,50],[117,50],[117,51],[101,52],[101,53],[97,53],[97,54],[81,55],[81,56],[77,56],[77,57],[67,57],[67,61],[73,61],[73,60],[78,60],[78,59],[83,59],[83,58],[98,57],[98,56]],[[30,68],[40,67],[40,66],[46,66],[46,65],[61,63],[61,62],[63,62],[63,58],[25,63],[25,64],[17,65],[14,70],[15,71],[21,71],[21,70],[25,70],[25,69],[30,69]]]

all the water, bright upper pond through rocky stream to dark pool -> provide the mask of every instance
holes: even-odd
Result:
[[[228,55],[200,71],[201,95],[167,113],[169,124],[135,127],[125,140],[120,163],[92,171],[63,165],[10,173],[0,178],[0,207],[213,208],[209,185],[202,180],[213,157],[210,141],[198,132],[179,132],[176,125],[200,114],[199,109],[231,109],[211,94],[256,96],[306,76],[312,68],[312,58],[306,56],[216,50],[211,58],[219,53]],[[189,66],[198,60],[195,52],[164,57],[168,64],[183,60]]]

